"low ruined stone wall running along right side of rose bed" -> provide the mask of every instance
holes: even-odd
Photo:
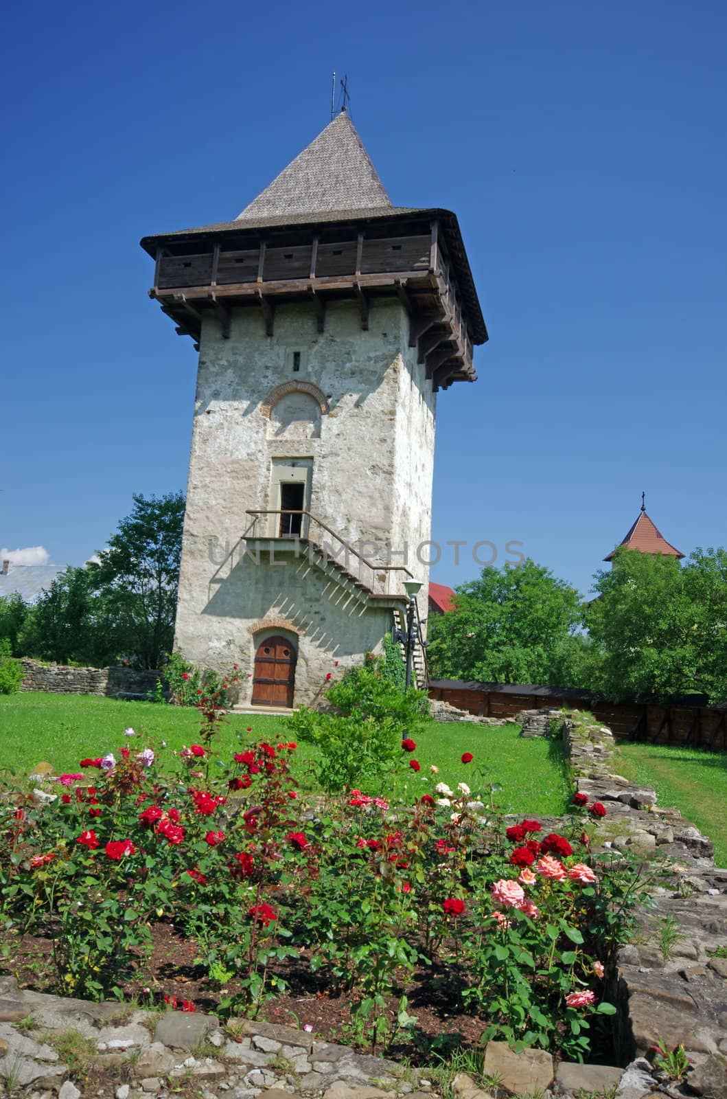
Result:
[[[616,1035],[622,1062],[646,1054],[662,1041],[673,1050],[684,1044],[696,1066],[690,1088],[701,1076],[719,1074],[727,1096],[727,869],[714,864],[714,845],[675,809],[657,806],[652,789],[629,782],[614,768],[616,742],[605,725],[561,719],[575,786],[607,815],[594,846],[630,848],[649,873],[662,856],[671,859],[651,888],[653,907],[638,915],[635,942],[618,954],[615,988],[609,996],[622,1012]],[[666,923],[673,933],[664,939]],[[668,942],[671,939],[671,943]]]

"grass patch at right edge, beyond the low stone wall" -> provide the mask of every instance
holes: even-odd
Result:
[[[657,804],[679,809],[708,835],[717,866],[727,866],[727,755],[669,744],[619,744],[617,770],[657,791]]]

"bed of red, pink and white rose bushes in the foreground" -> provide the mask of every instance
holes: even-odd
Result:
[[[154,924],[172,918],[223,1012],[284,991],[295,958],[347,990],[355,1035],[376,1045],[415,1023],[407,986],[436,965],[459,1009],[489,1021],[485,1039],[588,1053],[591,1017],[614,1011],[604,981],[642,888],[626,856],[591,851],[583,824],[603,807],[579,797],[544,834],[483,810],[465,782],[409,807],[357,788],[312,802],[294,742],[221,758],[220,698],[197,704],[189,748],[126,744],[61,776],[51,806],[7,797],[2,920],[51,932],[59,988],[122,996]],[[407,769],[416,745],[395,729]]]

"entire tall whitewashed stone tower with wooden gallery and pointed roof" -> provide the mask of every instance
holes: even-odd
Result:
[[[488,338],[457,219],[393,207],[342,112],[234,221],[142,246],[200,353],[175,647],[311,702],[412,576],[425,613],[436,393]]]

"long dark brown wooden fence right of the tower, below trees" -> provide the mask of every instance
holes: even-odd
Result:
[[[430,679],[429,698],[441,699],[481,718],[512,718],[521,710],[568,707],[590,710],[616,736],[660,744],[727,750],[727,706],[708,707],[703,696],[670,706],[655,702],[605,702],[584,690],[532,684],[490,684]]]

